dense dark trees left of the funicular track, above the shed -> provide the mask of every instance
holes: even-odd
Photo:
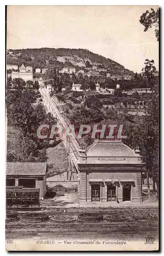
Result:
[[[10,89],[13,87],[17,89]],[[46,161],[45,148],[50,146],[49,139],[39,139],[37,129],[40,124],[49,124],[50,127],[56,123],[56,119],[46,113],[44,106],[36,101],[40,98],[37,90],[29,89],[32,84],[22,79],[7,81],[6,108],[8,125],[18,128],[19,144],[22,147],[22,155],[7,148],[7,161]],[[43,131],[43,133],[48,131]],[[54,138],[51,146],[56,144]]]

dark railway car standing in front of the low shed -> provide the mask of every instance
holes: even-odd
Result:
[[[40,206],[39,188],[6,186],[6,206]]]

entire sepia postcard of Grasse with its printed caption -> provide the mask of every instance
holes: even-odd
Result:
[[[159,6],[6,6],[7,251],[159,250]]]

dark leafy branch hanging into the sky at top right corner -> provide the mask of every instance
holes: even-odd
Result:
[[[144,31],[147,31],[154,26],[155,36],[157,41],[159,41],[159,9],[154,11],[154,9],[151,8],[151,12],[147,10],[140,16],[139,22],[145,27]]]

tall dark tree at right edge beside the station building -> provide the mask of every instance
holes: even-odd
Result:
[[[123,142],[130,147],[139,147],[143,162],[146,163],[146,174],[149,189],[149,177],[153,179],[153,190],[155,183],[158,190],[159,170],[159,96],[151,95],[148,102],[147,115],[137,118],[134,124],[126,127],[127,139]]]

